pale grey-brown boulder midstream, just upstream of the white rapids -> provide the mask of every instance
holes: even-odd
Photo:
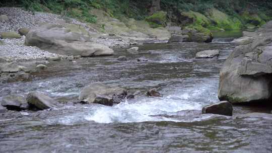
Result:
[[[96,82],[82,89],[79,102],[82,103],[99,103],[102,105],[111,105],[111,103],[118,103],[120,99],[125,98],[127,91],[125,89],[104,85]]]

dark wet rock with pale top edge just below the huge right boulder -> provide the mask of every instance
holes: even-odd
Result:
[[[233,107],[231,103],[227,101],[222,101],[202,108],[202,114],[220,114],[232,116],[232,111]]]

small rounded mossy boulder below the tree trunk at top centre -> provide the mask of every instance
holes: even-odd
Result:
[[[166,12],[159,11],[154,13],[152,16],[147,17],[146,21],[152,28],[165,27],[166,26]]]

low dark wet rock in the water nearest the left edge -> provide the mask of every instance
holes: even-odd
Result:
[[[20,95],[9,95],[3,98],[2,106],[8,110],[21,111],[28,109],[25,97]]]

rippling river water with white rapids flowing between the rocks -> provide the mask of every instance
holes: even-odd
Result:
[[[139,54],[120,49],[110,57],[52,62],[31,81],[2,84],[1,98],[38,90],[63,106],[0,116],[0,152],[271,152],[270,118],[184,111],[219,101],[219,71],[235,47],[231,39],[145,43]],[[220,49],[219,59],[194,59],[207,49]],[[121,55],[130,59],[117,61]],[[142,94],[113,107],[72,104],[84,86],[97,81],[131,93],[158,88],[163,98]],[[234,114],[256,111],[263,109],[234,107]]]

